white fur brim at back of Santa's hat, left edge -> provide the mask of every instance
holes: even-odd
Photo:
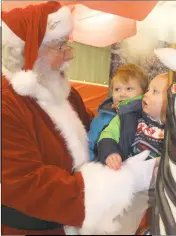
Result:
[[[20,39],[6,24],[2,21],[2,44],[15,47],[24,47],[25,42]]]

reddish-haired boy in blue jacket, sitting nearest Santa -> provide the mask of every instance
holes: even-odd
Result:
[[[95,160],[95,156],[97,155],[97,141],[102,130],[109,125],[109,122],[117,114],[122,119],[125,119],[125,123],[122,122],[121,124],[122,130],[124,129],[123,124],[125,124],[126,127],[129,120],[132,122],[132,120],[135,119],[136,125],[134,125],[133,129],[134,132],[136,131],[138,117],[141,117],[142,95],[146,92],[148,82],[148,77],[137,65],[129,64],[118,68],[111,82],[112,97],[105,100],[99,106],[98,112],[100,115],[95,117],[91,123],[90,131],[88,133],[90,160]],[[104,135],[104,133],[102,135]],[[130,137],[127,133],[125,133],[125,136],[122,134],[121,138],[125,138],[125,140],[129,143],[128,146],[130,145],[131,147],[132,142],[134,141],[134,135]],[[99,150],[99,154],[101,155],[100,159],[103,161],[105,157],[102,155],[101,151],[104,151],[104,148],[100,148]],[[125,152],[125,155],[128,153],[129,150]],[[108,156],[107,152],[105,152],[105,154]]]

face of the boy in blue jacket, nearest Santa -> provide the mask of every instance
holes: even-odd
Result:
[[[143,94],[143,90],[141,89],[139,82],[135,79],[129,79],[126,83],[122,83],[121,81],[113,82],[114,104],[118,104],[123,100],[133,98],[141,94]]]

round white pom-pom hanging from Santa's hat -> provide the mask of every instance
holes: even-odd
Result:
[[[35,96],[37,88],[37,74],[33,71],[20,71],[15,73],[10,83],[19,95]]]

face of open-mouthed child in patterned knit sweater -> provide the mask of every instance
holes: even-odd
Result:
[[[143,111],[154,119],[165,121],[167,107],[168,76],[156,76],[149,84],[145,93],[142,107]]]

